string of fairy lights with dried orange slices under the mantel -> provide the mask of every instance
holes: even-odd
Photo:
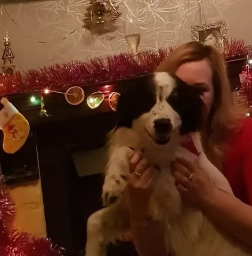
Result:
[[[70,87],[66,92],[54,91],[54,90],[49,90],[49,89],[43,90],[44,95],[47,95],[49,93],[63,94],[66,101],[72,106],[79,105],[85,99],[84,90],[82,89],[82,87],[79,87],[79,86]],[[116,111],[116,105],[117,105],[117,100],[118,100],[119,96],[120,96],[120,93],[118,93],[118,92],[114,92],[114,91],[109,92],[108,103],[109,103],[111,110],[113,110],[113,111]],[[94,92],[86,98],[87,106],[90,107],[91,109],[98,108],[101,105],[101,103],[105,100],[105,98],[106,97],[105,97],[104,92],[102,92],[102,91]],[[30,103],[33,106],[40,105],[39,115],[41,117],[50,116],[50,114],[48,114],[48,112],[45,108],[44,98],[43,98],[42,94],[40,95],[40,98],[36,97],[35,95],[31,95]]]

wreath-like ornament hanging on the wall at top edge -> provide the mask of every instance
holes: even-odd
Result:
[[[85,13],[86,30],[94,34],[105,34],[117,28],[114,22],[120,17],[119,7],[112,0],[91,0]]]

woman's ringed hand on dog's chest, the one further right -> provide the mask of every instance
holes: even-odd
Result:
[[[204,207],[210,202],[215,187],[200,167],[199,156],[184,147],[178,147],[172,173],[177,190],[185,201],[198,207]]]

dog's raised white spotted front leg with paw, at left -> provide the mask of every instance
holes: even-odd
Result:
[[[129,159],[134,151],[129,147],[120,147],[113,149],[105,180],[102,188],[103,205],[108,206],[115,203],[125,190],[127,177],[129,175]]]

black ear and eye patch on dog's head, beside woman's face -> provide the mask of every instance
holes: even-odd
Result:
[[[202,90],[186,84],[175,77],[176,86],[168,97],[170,106],[180,115],[181,135],[199,131],[203,124],[204,102],[200,98]]]

